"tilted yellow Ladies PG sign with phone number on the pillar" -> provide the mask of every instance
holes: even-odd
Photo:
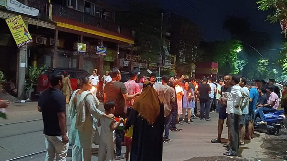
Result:
[[[33,42],[21,15],[6,19],[6,23],[18,48]]]

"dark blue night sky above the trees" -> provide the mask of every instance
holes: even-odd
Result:
[[[128,10],[135,5],[125,0],[103,0],[110,5]],[[131,2],[146,2],[147,0],[129,0]],[[280,24],[270,24],[264,21],[269,14],[268,11],[259,11],[256,0],[184,0],[188,7],[181,0],[158,0],[165,10],[176,10],[175,13],[189,18],[199,25],[202,37],[205,41],[228,40],[231,38],[228,31],[223,29],[223,22],[227,15],[236,17],[249,17],[251,30],[266,32],[272,38],[272,45],[265,49],[282,48],[282,30]],[[148,8],[148,6],[142,6]],[[196,11],[195,11],[196,10]],[[159,15],[160,16],[160,15]],[[252,46],[252,44],[250,44]],[[256,46],[254,46],[256,48]],[[278,50],[279,52],[279,50]]]

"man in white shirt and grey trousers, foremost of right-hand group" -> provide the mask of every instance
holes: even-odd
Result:
[[[239,147],[239,121],[242,115],[241,107],[243,101],[243,89],[240,87],[241,79],[238,76],[232,76],[231,93],[227,101],[226,113],[228,120],[228,127],[230,131],[230,149],[223,153],[226,156],[237,156]]]

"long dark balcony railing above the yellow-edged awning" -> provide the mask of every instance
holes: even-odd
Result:
[[[104,19],[95,17],[93,15],[89,15],[81,11],[77,11],[75,9],[71,9],[68,7],[61,6],[61,5],[53,4],[52,15],[65,18],[65,19],[69,19],[71,21],[84,23],[86,25],[92,25],[98,28],[102,28],[110,32],[123,35],[125,37],[132,37],[131,30],[128,28],[125,28],[123,26],[117,25],[116,23],[106,21]]]

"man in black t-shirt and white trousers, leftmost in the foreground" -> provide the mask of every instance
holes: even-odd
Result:
[[[46,160],[65,160],[69,148],[66,127],[66,100],[61,89],[61,74],[49,78],[52,87],[42,92],[38,101],[38,111],[42,112],[44,137],[46,142]]]

